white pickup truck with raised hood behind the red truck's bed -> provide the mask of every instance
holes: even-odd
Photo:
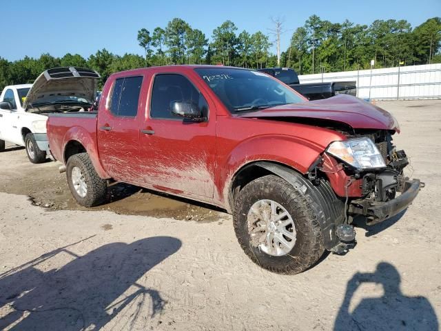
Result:
[[[6,86],[0,95],[0,152],[8,141],[25,146],[32,163],[45,161],[48,114],[89,110],[99,78],[94,70],[63,67],[45,70],[33,84]]]

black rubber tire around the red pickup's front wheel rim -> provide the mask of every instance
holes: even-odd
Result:
[[[251,206],[261,199],[280,203],[291,215],[296,226],[296,243],[288,254],[271,256],[253,247],[247,225]],[[297,274],[320,259],[325,248],[313,199],[276,175],[260,177],[245,185],[234,201],[233,223],[236,237],[245,254],[260,267],[278,274]]]

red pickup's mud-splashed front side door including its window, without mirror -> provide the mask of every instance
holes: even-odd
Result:
[[[192,101],[203,110],[206,120],[192,122],[174,116],[172,101]],[[154,76],[148,118],[140,136],[140,169],[145,183],[177,194],[213,197],[216,112],[210,102],[182,74]]]

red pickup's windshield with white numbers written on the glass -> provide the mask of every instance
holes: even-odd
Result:
[[[294,90],[262,72],[222,67],[195,71],[232,114],[304,101]]]

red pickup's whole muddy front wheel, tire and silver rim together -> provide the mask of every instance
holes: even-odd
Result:
[[[245,185],[236,197],[233,217],[245,254],[271,272],[305,271],[325,250],[309,199],[275,175]]]

